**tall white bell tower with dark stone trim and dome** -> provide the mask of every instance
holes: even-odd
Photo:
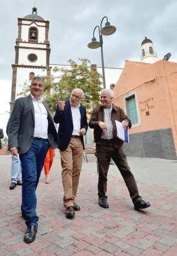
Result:
[[[12,88],[10,113],[16,94],[22,90],[20,85],[30,84],[34,76],[50,76],[50,43],[48,39],[49,20],[37,15],[37,8],[32,14],[18,18],[18,38],[15,44],[15,64],[12,64]]]

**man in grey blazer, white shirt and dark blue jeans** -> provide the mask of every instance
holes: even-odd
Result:
[[[24,242],[33,242],[37,233],[36,188],[48,147],[58,147],[58,136],[48,106],[41,98],[44,83],[40,77],[31,81],[31,94],[15,101],[9,124],[12,155],[20,156],[22,165],[22,216],[26,218]]]

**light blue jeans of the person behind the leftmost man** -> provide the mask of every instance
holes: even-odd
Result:
[[[17,183],[20,180],[22,174],[22,167],[19,159],[19,155],[12,155],[12,164],[11,164],[11,183]]]

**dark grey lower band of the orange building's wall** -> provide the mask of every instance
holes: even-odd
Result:
[[[130,143],[124,143],[127,156],[177,159],[174,138],[170,128],[130,134],[129,139]]]

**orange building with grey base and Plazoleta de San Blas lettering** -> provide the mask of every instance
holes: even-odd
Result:
[[[114,103],[132,121],[128,156],[176,159],[177,63],[125,61]]]

